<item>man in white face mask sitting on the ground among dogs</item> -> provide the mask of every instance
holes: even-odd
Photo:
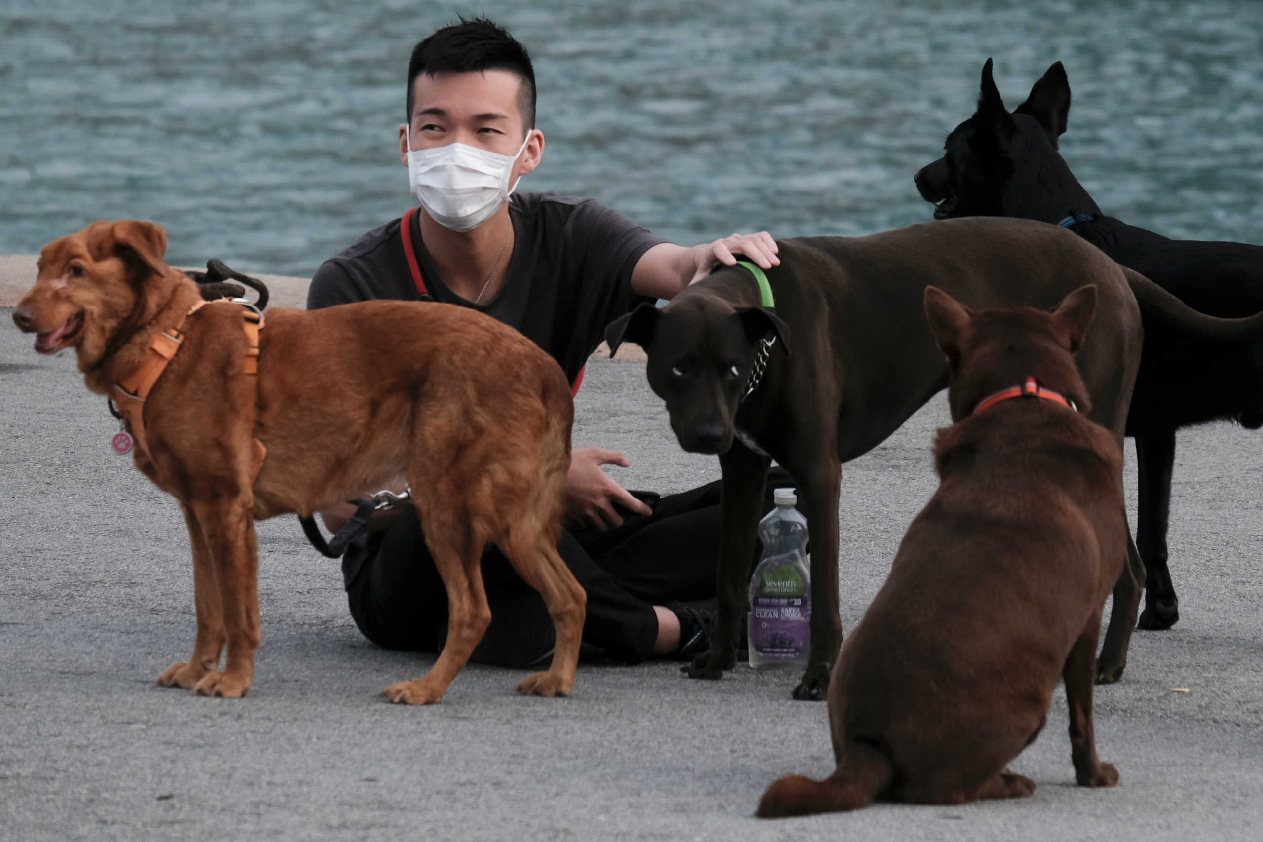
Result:
[[[765,269],[779,263],[767,233],[683,248],[591,200],[515,192],[544,150],[534,111],[530,59],[494,23],[462,20],[417,44],[399,159],[419,207],[322,264],[308,308],[422,296],[474,307],[534,340],[577,389],[605,325],[639,301],[672,298],[716,263],[734,263],[734,254]],[[585,642],[629,662],[700,654],[709,614],[681,601],[715,594],[719,483],[647,497],[650,507],[602,464],[628,461],[600,448],[573,451],[560,545],[587,593]],[[351,512],[344,506],[322,516],[337,530]],[[410,506],[380,512],[344,558],[351,613],[381,646],[442,646],[447,595],[423,526]],[[553,626],[539,595],[495,547],[484,554],[482,577],[491,626],[472,660],[528,666],[547,657]]]

